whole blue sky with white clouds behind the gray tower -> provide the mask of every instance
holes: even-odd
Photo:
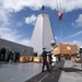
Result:
[[[0,38],[30,46],[37,16],[49,15],[56,42],[82,45],[82,0],[0,0]],[[63,13],[59,21],[57,12]]]

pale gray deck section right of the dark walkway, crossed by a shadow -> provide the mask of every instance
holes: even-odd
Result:
[[[82,82],[81,63],[66,61],[59,82]]]

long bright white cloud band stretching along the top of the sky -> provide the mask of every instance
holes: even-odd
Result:
[[[42,5],[54,10],[57,9],[57,2],[58,7],[65,12],[82,9],[82,0],[2,0],[3,8],[11,12],[21,11],[25,7],[39,10]]]

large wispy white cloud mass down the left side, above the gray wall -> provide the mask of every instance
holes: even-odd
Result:
[[[28,46],[30,39],[22,39],[23,35],[20,35],[16,27],[14,28],[12,14],[3,7],[4,1],[0,0],[0,38]],[[16,26],[21,25],[21,22],[16,23]]]

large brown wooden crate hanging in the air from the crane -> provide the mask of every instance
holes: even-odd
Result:
[[[75,51],[78,51],[77,45],[58,44],[57,46],[52,47],[52,54],[55,56],[71,56]]]

